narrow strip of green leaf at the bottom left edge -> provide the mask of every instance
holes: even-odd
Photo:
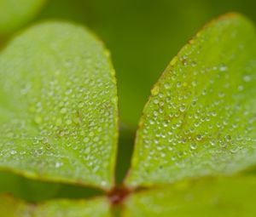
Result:
[[[110,206],[104,197],[90,201],[56,200],[28,204],[9,196],[0,196],[3,217],[110,217]]]

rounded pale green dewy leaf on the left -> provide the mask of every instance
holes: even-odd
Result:
[[[117,94],[109,53],[89,31],[44,23],[0,56],[0,168],[113,186]]]

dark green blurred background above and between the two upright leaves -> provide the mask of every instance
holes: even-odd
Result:
[[[134,132],[150,89],[172,57],[219,14],[236,11],[256,23],[255,7],[255,0],[48,0],[31,20],[0,35],[0,41],[41,20],[67,20],[96,32],[112,53],[118,79],[120,181],[129,165]]]

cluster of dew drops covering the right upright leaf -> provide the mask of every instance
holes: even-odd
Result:
[[[164,167],[196,168],[205,157],[216,169],[219,153],[228,153],[228,161],[244,149],[255,149],[255,94],[251,103],[242,100],[247,86],[252,89],[255,64],[230,83],[224,63],[197,66],[187,55],[175,61],[176,67],[168,66],[152,89],[144,110],[137,140],[143,144],[138,152],[143,167],[154,167],[154,173]]]

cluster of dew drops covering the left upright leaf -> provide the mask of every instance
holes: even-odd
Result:
[[[27,161],[31,160],[32,170],[41,172],[45,168],[49,174],[70,175],[80,180],[106,177],[97,173],[108,171],[116,99],[113,78],[106,73],[110,70],[108,63],[104,64],[90,63],[81,72],[81,68],[76,69],[67,60],[67,70],[48,71],[55,76],[51,80],[44,75],[47,72],[41,72],[39,90],[36,82],[21,83],[21,99],[28,101],[29,112],[3,126],[8,146],[1,152],[5,158],[2,162],[27,169]],[[69,69],[71,66],[73,70]],[[107,185],[100,180],[102,186]]]

